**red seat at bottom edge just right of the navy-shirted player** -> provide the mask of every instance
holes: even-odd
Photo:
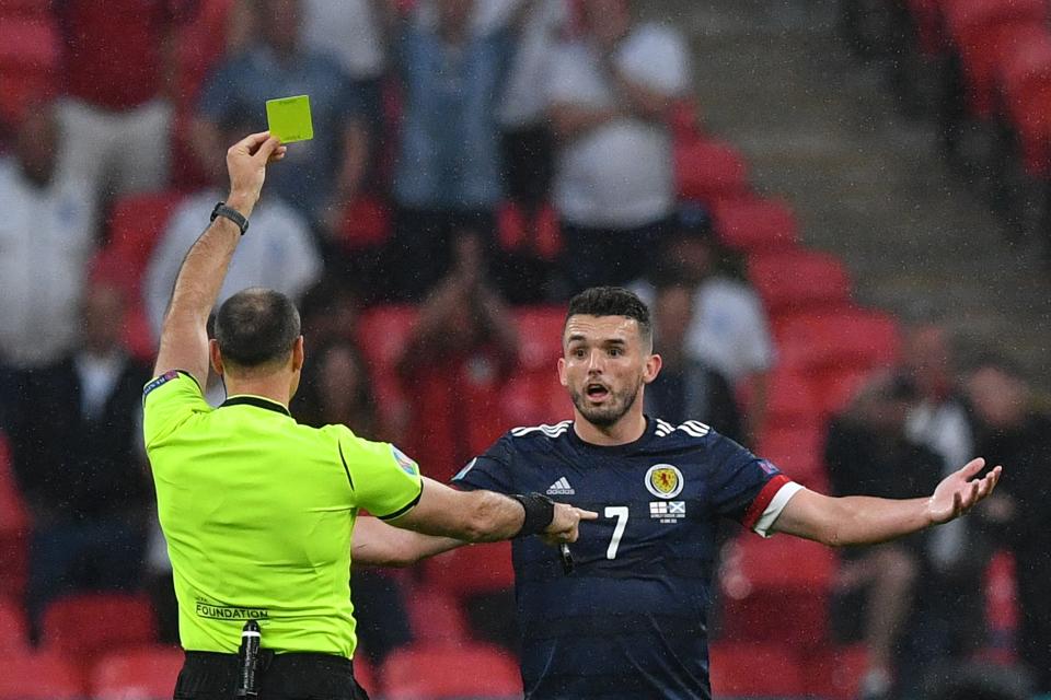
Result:
[[[708,649],[712,693],[728,698],[807,696],[806,675],[792,648],[717,642]]]

